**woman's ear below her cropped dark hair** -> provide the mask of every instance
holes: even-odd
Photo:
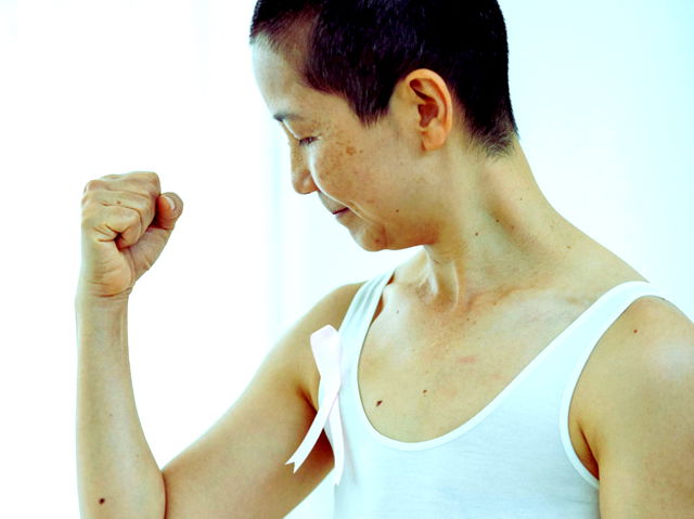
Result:
[[[414,112],[422,148],[442,147],[453,126],[453,102],[446,81],[435,72],[420,68],[408,74],[397,89],[401,101]]]

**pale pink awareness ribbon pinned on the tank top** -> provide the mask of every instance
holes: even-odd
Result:
[[[330,420],[330,430],[333,434],[331,441],[333,457],[335,459],[334,483],[339,484],[345,466],[345,445],[343,439],[343,427],[339,418],[339,386],[342,377],[339,373],[339,335],[331,325],[323,326],[318,332],[311,334],[311,350],[316,359],[318,372],[321,375],[321,386],[323,387],[323,398],[319,402],[318,413],[311,427],[308,429],[304,441],[285,463],[294,464],[294,473],[310,454],[313,445],[321,436],[321,431]]]

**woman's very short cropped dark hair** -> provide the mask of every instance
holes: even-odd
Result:
[[[309,24],[303,79],[343,96],[363,125],[388,112],[399,80],[428,68],[448,83],[489,156],[517,134],[497,0],[258,0],[250,42],[264,36],[282,51],[301,23]]]

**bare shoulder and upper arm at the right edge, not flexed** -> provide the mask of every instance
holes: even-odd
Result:
[[[638,333],[637,333],[638,330]],[[588,429],[605,519],[694,517],[694,324],[645,297],[606,334]]]

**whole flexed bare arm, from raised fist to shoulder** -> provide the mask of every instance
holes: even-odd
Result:
[[[323,433],[300,469],[285,462],[316,416],[319,374],[310,335],[340,326],[359,284],[319,301],[268,353],[229,411],[163,470],[137,413],[127,310],[134,282],[166,245],[171,210],[154,173],[110,176],[87,185],[78,337],[77,479],[82,518],[274,518],[306,497],[333,466]],[[258,348],[261,345],[237,346]]]

